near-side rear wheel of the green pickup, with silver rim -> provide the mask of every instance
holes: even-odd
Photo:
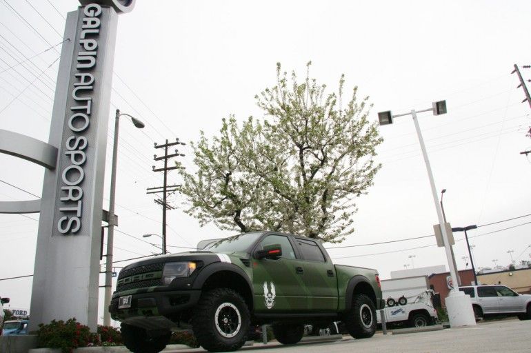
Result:
[[[354,294],[352,309],[345,314],[345,326],[354,339],[368,339],[376,332],[376,309],[365,294]]]

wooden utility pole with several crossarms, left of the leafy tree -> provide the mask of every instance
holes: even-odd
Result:
[[[161,157],[157,157],[157,154],[153,156],[154,161],[164,161],[164,167],[163,168],[155,168],[153,165],[153,172],[163,172],[164,173],[164,179],[163,179],[163,185],[158,186],[155,188],[148,188],[148,192],[146,194],[157,194],[159,192],[162,192],[162,199],[154,199],[155,203],[158,203],[162,206],[162,253],[166,254],[166,210],[174,210],[175,208],[172,205],[168,205],[168,193],[176,192],[177,189],[181,185],[168,185],[168,171],[174,170],[174,169],[183,169],[184,167],[168,167],[168,160],[173,157],[184,157],[184,154],[179,153],[178,150],[175,150],[173,154],[168,154],[168,148],[174,146],[174,145],[186,145],[186,143],[183,143],[179,141],[179,139],[175,139],[175,142],[168,142],[168,139],[166,139],[166,143],[163,145],[157,145],[157,143],[154,143],[154,148],[163,148],[164,149],[164,155]]]

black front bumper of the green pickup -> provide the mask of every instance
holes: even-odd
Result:
[[[134,316],[171,317],[194,306],[199,301],[201,291],[176,290],[130,295],[130,307],[126,308],[119,308],[119,294],[113,297],[109,305],[112,319],[123,321]]]

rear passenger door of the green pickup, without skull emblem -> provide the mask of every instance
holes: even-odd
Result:
[[[304,283],[308,292],[308,309],[317,312],[337,310],[337,277],[332,261],[328,260],[315,241],[295,238],[304,263]]]

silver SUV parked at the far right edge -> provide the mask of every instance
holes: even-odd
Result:
[[[520,320],[531,319],[531,295],[519,294],[505,285],[470,285],[460,287],[470,295],[474,316],[513,315]]]

